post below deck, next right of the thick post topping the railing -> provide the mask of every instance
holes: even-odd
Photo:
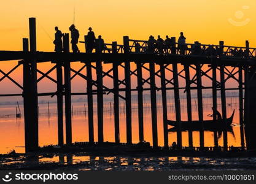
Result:
[[[138,90],[139,142],[144,141],[142,63],[136,63]]]

